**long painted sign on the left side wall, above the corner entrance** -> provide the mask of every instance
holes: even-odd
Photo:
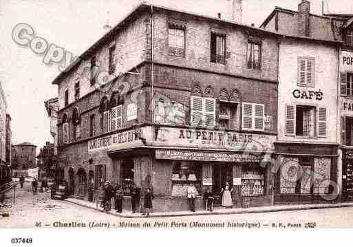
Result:
[[[98,150],[119,150],[130,147],[142,146],[142,138],[146,138],[151,133],[151,127],[129,129],[121,133],[114,133],[103,138],[88,141],[88,151]]]

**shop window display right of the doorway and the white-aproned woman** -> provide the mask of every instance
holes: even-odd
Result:
[[[265,173],[255,167],[242,167],[242,195],[257,196],[264,195]]]

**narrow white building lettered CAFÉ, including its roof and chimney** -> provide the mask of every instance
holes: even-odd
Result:
[[[279,44],[275,204],[330,202],[330,193],[339,199],[339,30],[311,14],[306,0],[298,11],[275,8],[261,28],[286,34]]]

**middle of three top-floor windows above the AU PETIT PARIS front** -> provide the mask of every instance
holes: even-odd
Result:
[[[226,35],[211,33],[211,62],[226,63]]]

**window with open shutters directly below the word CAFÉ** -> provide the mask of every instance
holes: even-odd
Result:
[[[286,136],[303,138],[327,136],[325,107],[286,105]]]

